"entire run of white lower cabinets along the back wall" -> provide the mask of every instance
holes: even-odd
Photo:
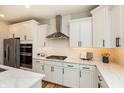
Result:
[[[33,71],[45,74],[46,81],[66,87],[97,87],[95,66],[33,60]]]

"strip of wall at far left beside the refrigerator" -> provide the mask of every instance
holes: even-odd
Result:
[[[3,39],[8,37],[8,25],[0,21],[0,64],[3,64]]]

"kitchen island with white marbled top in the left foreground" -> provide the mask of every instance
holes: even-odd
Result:
[[[0,88],[41,88],[43,74],[0,65]]]

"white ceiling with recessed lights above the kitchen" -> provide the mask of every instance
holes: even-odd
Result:
[[[44,20],[57,14],[68,15],[83,13],[92,10],[96,5],[0,5],[0,14],[5,15],[2,20],[17,22],[21,20],[36,19]]]

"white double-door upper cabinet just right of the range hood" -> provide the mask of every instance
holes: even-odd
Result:
[[[70,47],[92,47],[91,17],[70,21]]]

